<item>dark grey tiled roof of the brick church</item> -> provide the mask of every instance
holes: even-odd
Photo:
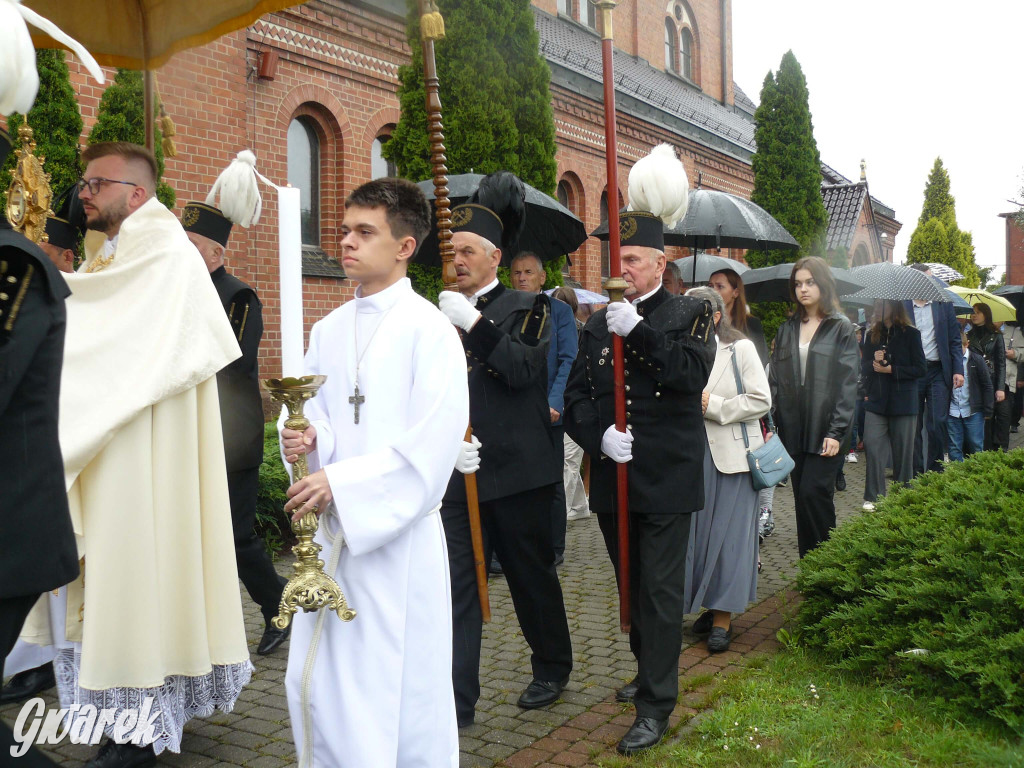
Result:
[[[601,41],[581,25],[534,8],[541,55],[551,67],[553,83],[600,99],[603,82]],[[675,132],[750,162],[754,122],[741,111],[724,106],[681,78],[615,50],[615,91],[620,109],[658,122]],[[745,98],[745,96],[744,96]],[[750,99],[746,99],[750,101]],[[753,102],[752,102],[753,103]]]

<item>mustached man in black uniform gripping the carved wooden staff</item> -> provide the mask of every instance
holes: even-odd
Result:
[[[548,408],[548,297],[499,283],[501,246],[511,241],[503,238],[501,203],[490,205],[499,211],[464,205],[452,213],[459,293],[442,292],[440,308],[463,332],[470,422],[480,443],[476,481],[485,546],[502,562],[532,650],[534,680],[518,705],[537,709],[557,700],[572,670],[551,532],[562,444],[555,440]],[[444,495],[441,519],[452,569],[456,714],[464,727],[472,724],[480,695],[482,625],[465,482],[458,471]]]

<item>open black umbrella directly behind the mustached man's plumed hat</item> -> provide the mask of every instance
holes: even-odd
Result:
[[[481,178],[483,174],[480,173],[449,176],[449,200],[452,201],[452,207],[455,208],[469,200],[469,196],[479,186]],[[433,212],[433,179],[420,181],[417,186],[427,196],[427,200],[431,203],[430,210]],[[526,187],[526,221],[516,247],[517,252],[532,251],[543,261],[550,261],[563,254],[572,253],[587,241],[587,227],[572,211],[529,184],[523,182],[523,186]],[[503,252],[502,263],[508,266],[514,256],[515,253]],[[436,221],[433,222],[430,234],[416,255],[416,263],[426,266],[438,266],[441,263]]]

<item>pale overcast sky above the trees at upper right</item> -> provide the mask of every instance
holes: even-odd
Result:
[[[905,259],[936,157],[949,172],[976,259],[1006,265],[1004,220],[1024,172],[1022,0],[733,0],[734,79],[755,102],[793,49],[811,94],[821,159],[856,180],[903,228]]]

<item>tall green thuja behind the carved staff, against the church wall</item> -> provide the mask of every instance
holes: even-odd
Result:
[[[551,72],[540,53],[529,0],[438,0],[437,5],[445,28],[445,38],[434,47],[449,173],[512,171],[553,195]],[[413,56],[399,70],[401,118],[384,156],[399,175],[420,181],[431,177],[433,168],[416,0],[409,2],[407,29]],[[549,284],[560,284],[560,264],[549,270]],[[440,285],[439,270],[415,262],[410,276],[424,295]]]

